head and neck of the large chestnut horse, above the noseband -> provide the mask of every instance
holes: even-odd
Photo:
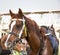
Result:
[[[40,30],[38,30],[38,25],[35,21],[24,16],[21,9],[19,9],[17,14],[13,13],[11,10],[9,10],[9,12],[12,20],[9,25],[10,36],[17,36],[19,40],[21,38],[26,38],[33,53],[37,54],[40,47]]]

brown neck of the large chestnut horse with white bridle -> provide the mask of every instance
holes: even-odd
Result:
[[[37,33],[40,34],[40,32],[37,31],[39,28],[34,21],[25,16],[24,18],[26,21],[26,27],[28,31],[27,41],[33,50],[35,50],[36,45],[38,46],[36,49],[38,49],[40,47],[40,39],[38,38],[39,35],[37,34]]]

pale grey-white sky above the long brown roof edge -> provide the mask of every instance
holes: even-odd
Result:
[[[60,0],[0,0],[0,13],[8,13],[9,9],[17,12],[60,10]]]

